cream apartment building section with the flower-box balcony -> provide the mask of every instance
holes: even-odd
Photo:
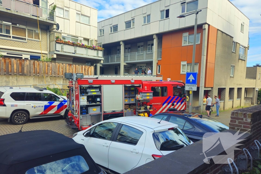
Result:
[[[56,22],[59,29],[50,32],[50,56],[53,61],[81,65],[94,65],[103,60],[102,50],[68,44],[97,45],[97,9],[71,0],[50,0],[56,5]],[[57,36],[67,43],[57,43]]]

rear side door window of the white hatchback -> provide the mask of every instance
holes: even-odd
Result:
[[[116,141],[131,145],[137,145],[142,134],[142,131],[123,124]]]

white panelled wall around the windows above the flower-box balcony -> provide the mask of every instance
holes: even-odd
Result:
[[[69,8],[69,19],[56,16],[56,22],[59,23],[59,30],[62,30],[62,33],[97,40],[97,9],[70,0],[49,0],[49,5],[52,3],[59,8]],[[76,22],[76,11],[89,16],[90,25]]]

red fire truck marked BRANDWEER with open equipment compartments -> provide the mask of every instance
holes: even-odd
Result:
[[[185,84],[162,81],[162,76],[83,76],[69,80],[66,123],[84,130],[100,121],[123,116],[149,116],[186,110]],[[139,95],[145,94],[146,96]],[[140,97],[140,98],[139,98]],[[144,98],[145,97],[145,98]]]

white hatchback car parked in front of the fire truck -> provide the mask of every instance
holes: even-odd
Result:
[[[73,136],[100,167],[118,173],[193,143],[177,124],[140,116],[102,121]]]

